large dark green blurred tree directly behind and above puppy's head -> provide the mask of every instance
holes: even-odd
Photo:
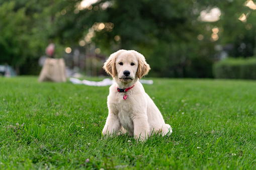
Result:
[[[107,8],[103,9],[106,3]],[[145,55],[154,70],[151,76],[185,77],[190,76],[185,69],[191,69],[191,62],[196,61],[194,58],[213,56],[211,42],[209,49],[203,48],[200,54],[202,49],[198,44],[203,43],[197,36],[201,23],[197,22],[199,14],[194,13],[195,8],[200,7],[195,7],[190,0],[100,1],[87,8],[86,17],[78,21],[80,25],[93,28],[92,41],[102,51],[137,50]],[[114,25],[113,29],[108,28],[109,23]],[[105,27],[97,28],[100,24]],[[212,77],[211,67],[204,68],[208,71],[202,72],[209,73],[205,77]]]

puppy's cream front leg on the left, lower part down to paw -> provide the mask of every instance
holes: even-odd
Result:
[[[121,124],[119,122],[119,119],[117,117],[117,114],[114,113],[109,113],[107,120],[106,120],[106,124],[103,128],[103,135],[108,135],[108,136],[112,136],[114,135],[116,132],[119,131],[121,127]]]

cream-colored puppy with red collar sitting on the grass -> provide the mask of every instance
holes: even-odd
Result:
[[[150,70],[143,55],[133,50],[119,50],[110,55],[103,68],[116,82],[109,88],[109,115],[103,135],[128,132],[135,139],[145,140],[153,132],[172,133],[138,81]]]

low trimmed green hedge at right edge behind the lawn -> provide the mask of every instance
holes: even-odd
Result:
[[[216,62],[213,75],[218,79],[256,80],[256,58],[227,58]]]

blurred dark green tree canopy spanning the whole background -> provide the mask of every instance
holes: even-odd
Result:
[[[81,0],[2,0],[0,64],[33,74],[36,69],[24,68],[44,55],[52,39],[57,57],[65,54],[64,47],[85,53],[83,47],[93,45],[106,56],[132,49],[146,57],[151,76],[211,77],[221,51],[231,57],[255,55],[256,11],[248,3],[103,0],[82,7]],[[214,14],[216,21],[204,21]]]

